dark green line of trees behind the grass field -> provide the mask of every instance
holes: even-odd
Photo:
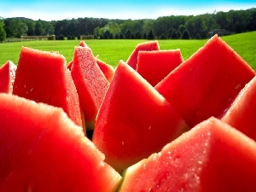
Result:
[[[79,38],[147,38],[147,39],[201,39],[213,33],[256,31],[256,8],[213,12],[204,15],[168,15],[155,20],[111,20],[78,18],[66,20],[31,20],[27,18],[0,18],[0,41],[20,38],[22,35],[55,35],[56,39]]]

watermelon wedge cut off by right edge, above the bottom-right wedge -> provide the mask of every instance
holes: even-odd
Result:
[[[222,120],[256,141],[256,77],[241,90]]]

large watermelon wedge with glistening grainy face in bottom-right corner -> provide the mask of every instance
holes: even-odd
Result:
[[[254,192],[255,172],[256,143],[210,118],[130,166],[119,192]]]

